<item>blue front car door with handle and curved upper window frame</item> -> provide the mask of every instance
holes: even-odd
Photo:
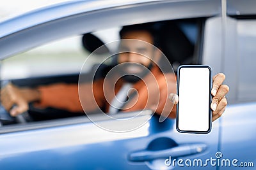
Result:
[[[0,39],[1,59],[53,39],[91,32],[100,27],[212,17],[205,23],[203,34],[200,34],[200,36],[205,35],[205,39],[204,43],[202,41],[198,45],[199,55],[201,53],[198,62],[203,62],[202,48],[205,43],[211,43],[208,41],[208,36],[212,36],[211,21],[218,20],[219,17],[216,16],[220,15],[221,8],[219,1],[149,1],[147,3],[139,1],[104,4],[105,6],[100,8],[95,5],[97,1],[63,4],[58,8],[52,7],[4,22]],[[85,10],[81,10],[81,6],[84,6]],[[38,20],[33,20],[36,16],[40,17]],[[31,20],[30,25],[26,23],[7,30],[8,27],[28,19]],[[220,37],[217,37],[214,43],[220,41]],[[205,50],[205,53],[207,52]],[[132,118],[136,114],[128,113],[118,117]],[[216,166],[205,163],[205,160],[211,157],[215,159],[216,152],[220,150],[219,120],[213,122],[209,134],[181,134],[175,129],[174,119],[166,119],[159,123],[159,117],[157,115],[151,117],[151,115],[150,111],[143,111],[140,117],[132,118],[131,124],[124,124],[120,120],[105,120],[100,115],[93,116],[96,122],[108,127],[131,129],[133,124],[140,125],[135,130],[122,133],[101,129],[86,117],[3,127],[0,130],[0,167],[3,169],[173,169],[173,167],[198,169],[207,166],[207,169],[216,169]]]

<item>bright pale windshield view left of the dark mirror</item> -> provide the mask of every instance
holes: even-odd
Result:
[[[3,60],[2,79],[31,78],[77,73],[88,52],[83,50],[81,36],[54,41]]]

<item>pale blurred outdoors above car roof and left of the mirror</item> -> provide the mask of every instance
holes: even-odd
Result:
[[[0,22],[28,11],[66,1],[1,1]],[[0,76],[1,79],[8,80],[52,74],[72,74],[77,71],[79,73],[88,55],[89,53],[83,49],[81,44],[81,36],[61,39],[3,60]]]

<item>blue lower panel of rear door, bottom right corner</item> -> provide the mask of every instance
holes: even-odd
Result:
[[[221,152],[223,158],[239,162],[253,162],[255,169],[256,103],[232,104],[221,120]],[[238,164],[238,163],[237,163]],[[230,167],[221,167],[228,169]]]

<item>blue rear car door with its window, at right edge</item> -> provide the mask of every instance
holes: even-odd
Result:
[[[232,90],[222,120],[221,150],[223,157],[237,159],[235,166],[241,169],[255,169],[256,162],[255,5],[227,1],[224,71]]]

